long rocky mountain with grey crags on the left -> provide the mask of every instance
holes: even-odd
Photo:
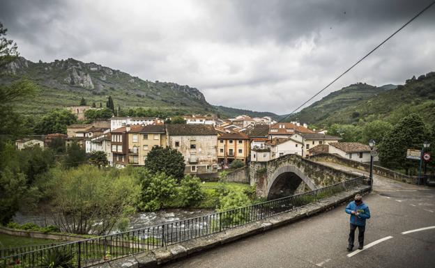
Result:
[[[88,105],[96,102],[103,107],[109,95],[115,107],[144,107],[181,113],[213,111],[204,95],[189,86],[160,81],[148,81],[96,63],[82,63],[73,58],[52,63],[33,63],[18,58],[7,70],[9,83],[21,77],[31,79],[41,88],[29,101],[17,105],[25,113],[45,113],[49,109],[78,105],[82,97]]]

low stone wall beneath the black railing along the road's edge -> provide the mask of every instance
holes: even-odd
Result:
[[[200,251],[205,251],[216,246],[221,246],[229,242],[233,242],[237,239],[242,239],[243,237],[248,237],[250,235],[256,235],[258,233],[277,228],[289,223],[293,223],[300,219],[304,219],[308,216],[320,212],[326,212],[333,207],[341,205],[342,203],[347,203],[349,200],[353,199],[355,194],[367,194],[369,192],[368,186],[358,187],[349,191],[344,191],[330,198],[325,198],[318,203],[312,203],[310,205],[305,205],[294,210],[292,212],[287,212],[279,214],[276,216],[271,216],[268,219],[262,221],[256,221],[253,223],[248,223],[245,226],[240,226],[237,228],[226,230],[225,232],[219,232],[214,235],[208,235],[206,237],[201,237],[198,239],[192,239],[187,242],[181,242],[167,248],[159,248],[152,251],[147,251],[144,253],[139,253],[136,255],[121,258],[119,260],[112,260],[110,262],[105,262],[100,265],[93,266],[94,268],[153,268],[159,267],[167,262],[172,262],[180,258],[188,257],[194,253]]]

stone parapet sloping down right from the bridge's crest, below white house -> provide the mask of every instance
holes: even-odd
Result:
[[[310,157],[307,157],[307,159],[310,159],[313,161],[331,162],[331,163],[340,164],[343,166],[349,166],[351,168],[357,168],[360,171],[370,172],[370,164],[362,163],[359,161],[354,161],[351,159],[346,159],[346,158],[340,157],[338,155],[321,153],[319,155],[312,155]],[[399,180],[401,182],[407,182],[410,184],[417,184],[418,183],[417,177],[398,173],[397,171],[392,171],[391,169],[383,168],[382,166],[374,165],[373,166],[373,173],[376,175],[383,176],[383,177],[391,178],[393,180]]]

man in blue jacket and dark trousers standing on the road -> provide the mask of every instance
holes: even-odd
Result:
[[[348,251],[353,250],[353,241],[355,241],[355,230],[358,227],[358,249],[363,249],[364,246],[364,231],[365,220],[370,219],[370,210],[365,203],[363,203],[363,196],[357,194],[355,199],[346,207],[346,213],[351,214],[351,231],[349,232],[349,246]]]

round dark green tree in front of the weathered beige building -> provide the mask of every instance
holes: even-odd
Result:
[[[145,160],[145,168],[151,173],[162,172],[181,180],[184,176],[185,163],[183,155],[176,149],[154,146]]]

